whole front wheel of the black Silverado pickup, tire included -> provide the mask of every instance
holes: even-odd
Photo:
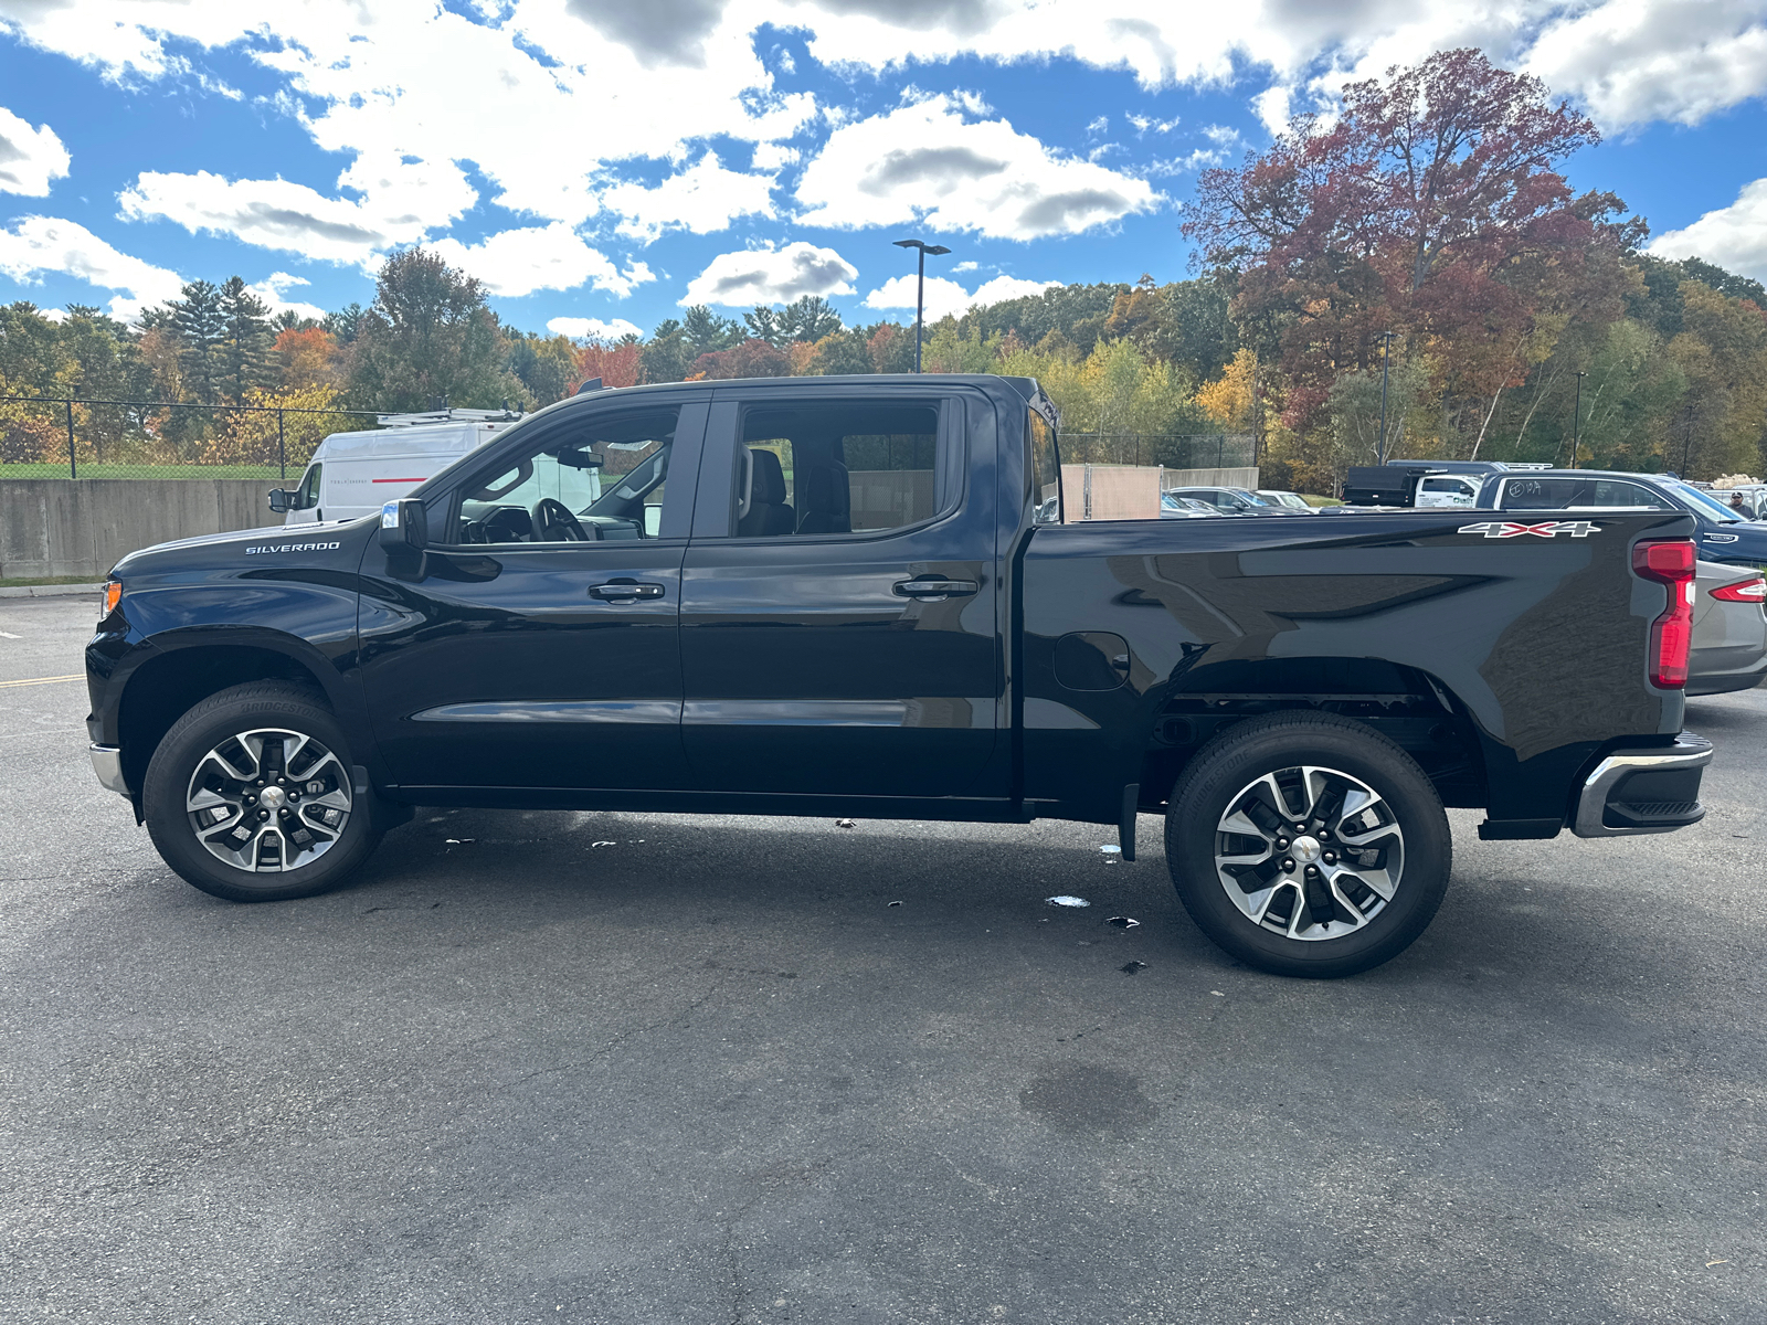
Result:
[[[249,746],[240,746],[239,733],[277,731],[295,733],[309,744],[300,747],[307,754],[293,753],[288,768],[277,767],[283,751],[297,746],[286,738],[258,738],[258,754]],[[231,744],[230,744],[231,742]],[[276,795],[283,802],[281,809],[239,811],[233,823],[242,825],[240,832],[256,832],[263,825],[251,820],[272,820],[288,825],[286,834],[270,834],[274,841],[262,844],[256,836],[240,839],[239,859],[249,855],[253,866],[231,864],[217,855],[230,841],[219,837],[214,829],[200,829],[200,814],[193,813],[187,799],[193,793],[193,779],[203,772],[205,784],[216,790],[207,795],[216,797],[217,813],[233,813],[233,806],[244,806],[246,797],[263,795],[256,781],[240,783],[219,776],[219,768],[228,763],[216,763],[212,753],[230,751],[224,756],[231,767],[244,772],[267,772],[267,781],[276,786],[277,776],[293,784],[277,788]],[[329,758],[316,760],[313,772],[304,772],[304,760],[315,758],[318,749]],[[249,761],[256,760],[256,768]],[[313,777],[313,783],[302,779]],[[228,901],[286,901],[290,897],[311,897],[341,885],[357,866],[360,866],[380,843],[383,816],[376,814],[373,793],[357,793],[352,786],[350,747],[343,728],[332,716],[325,701],[311,689],[290,682],[251,682],[210,694],[171,724],[171,730],[159,742],[154,758],[147,765],[147,779],[141,788],[141,809],[147,818],[147,832],[154,839],[154,848],[161,859],[171,866],[187,883],[203,892]],[[323,816],[329,813],[322,806],[320,793],[309,793],[307,806],[300,806],[306,786],[318,784],[330,802],[337,802],[341,823],[329,830],[320,823],[309,823],[306,814]],[[348,788],[339,791],[339,786]],[[269,800],[269,797],[265,797]],[[346,804],[345,804],[346,802]],[[256,802],[263,804],[263,802]],[[217,825],[231,827],[226,820]],[[269,825],[270,829],[276,823]],[[327,832],[330,837],[327,839]],[[306,834],[306,846],[297,837]],[[210,848],[203,844],[203,836],[223,843]],[[246,850],[249,846],[249,852]],[[258,873],[260,859],[274,859],[277,869]],[[283,853],[288,853],[286,867]]]

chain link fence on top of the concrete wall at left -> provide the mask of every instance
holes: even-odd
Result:
[[[299,479],[375,412],[0,396],[0,479]]]

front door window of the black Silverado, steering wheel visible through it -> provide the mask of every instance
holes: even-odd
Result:
[[[488,477],[470,479],[456,542],[656,537],[679,410],[597,419]]]

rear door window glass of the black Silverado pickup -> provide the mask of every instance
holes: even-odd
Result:
[[[898,399],[746,410],[735,535],[878,534],[931,519],[938,410]]]

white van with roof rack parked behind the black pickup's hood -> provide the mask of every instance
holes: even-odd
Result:
[[[320,442],[299,488],[270,489],[270,511],[286,512],[284,525],[371,516],[518,419],[505,410],[383,413],[373,431]]]

